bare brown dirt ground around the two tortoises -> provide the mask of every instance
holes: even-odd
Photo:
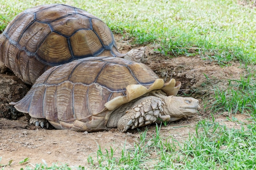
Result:
[[[132,49],[131,45],[121,36],[116,35],[120,51]],[[164,57],[156,51],[156,46],[147,46],[147,65],[159,77],[168,81],[171,77],[182,82],[179,94],[186,94],[200,101],[201,109],[192,119],[182,119],[162,126],[162,137],[173,136],[177,141],[184,141],[189,133],[194,132],[194,126],[202,119],[211,119],[209,107],[213,101],[214,86],[227,88],[229,79],[240,79],[245,69],[239,63],[233,62],[230,66],[221,67],[216,62],[193,57]],[[194,49],[191,49],[194,50]],[[205,76],[207,75],[207,76]],[[208,78],[207,78],[208,77]],[[0,164],[7,164],[13,160],[11,166],[4,169],[20,169],[26,165],[32,166],[42,163],[48,165],[61,162],[70,166],[88,166],[87,158],[96,158],[98,145],[104,150],[112,148],[132,148],[139,140],[138,130],[129,130],[126,133],[111,130],[108,132],[83,133],[72,130],[45,130],[28,125],[23,114],[18,113],[9,102],[17,102],[29,90],[30,86],[21,82],[11,71],[0,74]],[[215,113],[215,121],[222,122],[230,128],[239,128],[236,122],[227,121],[227,113]],[[235,117],[246,122],[247,116],[237,114]],[[140,128],[145,130],[145,127]],[[147,136],[155,133],[155,125],[148,126]],[[29,157],[29,162],[20,165],[18,162]]]

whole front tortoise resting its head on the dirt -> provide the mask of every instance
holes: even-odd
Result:
[[[37,126],[47,119],[57,129],[125,132],[195,115],[198,100],[175,96],[180,86],[175,79],[165,83],[143,63],[88,57],[49,68],[11,104]]]

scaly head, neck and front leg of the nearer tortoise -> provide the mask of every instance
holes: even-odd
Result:
[[[193,117],[200,108],[198,100],[191,97],[164,96],[153,94],[135,102],[117,123],[121,132],[151,124],[157,120],[177,121]],[[164,102],[163,102],[164,101]]]

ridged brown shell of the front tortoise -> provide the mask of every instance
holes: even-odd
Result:
[[[23,99],[12,104],[31,117],[46,118],[58,129],[98,131],[106,130],[111,110],[165,85],[145,64],[89,57],[50,68]],[[116,101],[120,97],[126,100]]]

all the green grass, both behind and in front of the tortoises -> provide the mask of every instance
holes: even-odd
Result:
[[[132,40],[133,45],[156,45],[157,51],[171,57],[199,55],[225,66],[233,61],[256,63],[256,8],[242,6],[237,0],[0,0],[0,32],[15,15],[39,4],[65,3],[101,18],[114,33]],[[240,129],[227,128],[212,121],[202,120],[195,133],[180,143],[173,137],[160,137],[161,126],[148,137],[140,132],[139,141],[132,149],[102,150],[101,146],[88,157],[90,169],[181,169],[181,170],[240,170],[256,169],[256,82],[255,71],[240,80],[230,80],[229,87],[215,86],[211,112],[227,111],[230,115],[252,115]],[[210,81],[210,79],[208,79]],[[234,117],[229,121],[237,121]],[[1,160],[1,158],[0,158]],[[29,162],[25,158],[20,162]],[[12,161],[0,164],[2,170],[12,167]],[[25,166],[26,170],[86,169],[67,164],[46,162]]]

